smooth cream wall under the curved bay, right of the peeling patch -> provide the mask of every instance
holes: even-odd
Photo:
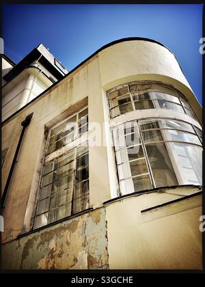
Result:
[[[141,213],[177,198],[165,191],[107,206],[109,269],[202,270],[202,197]]]

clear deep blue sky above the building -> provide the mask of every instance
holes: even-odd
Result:
[[[68,70],[113,40],[157,40],[202,103],[202,4],[3,4],[2,28],[4,52],[16,63],[42,43]]]

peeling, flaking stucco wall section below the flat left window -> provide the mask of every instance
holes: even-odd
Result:
[[[108,269],[105,208],[2,247],[3,269]]]

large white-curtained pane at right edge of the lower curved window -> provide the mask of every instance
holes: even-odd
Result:
[[[188,143],[171,143],[183,184],[202,184],[202,148]]]

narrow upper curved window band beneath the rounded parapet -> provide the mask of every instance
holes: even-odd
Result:
[[[131,82],[115,87],[107,94],[111,118],[140,109],[173,109],[195,118],[184,96],[167,85]]]

